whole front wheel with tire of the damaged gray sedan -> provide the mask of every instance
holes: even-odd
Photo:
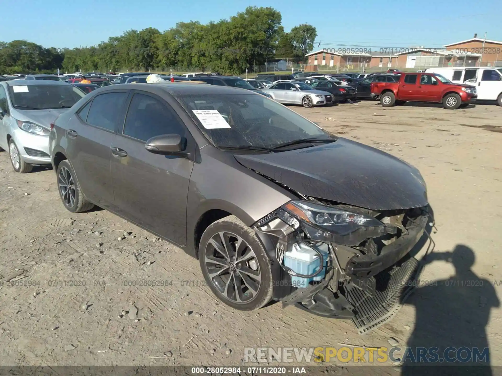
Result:
[[[272,298],[272,272],[255,232],[235,216],[204,231],[199,244],[202,274],[223,303],[241,311],[258,309]]]

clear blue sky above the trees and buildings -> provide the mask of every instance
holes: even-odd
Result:
[[[177,22],[219,21],[249,6],[273,7],[286,31],[307,23],[317,28],[320,48],[339,45],[410,47],[472,38],[502,40],[500,0],[375,0],[248,2],[242,0],[2,0],[0,41],[25,39],[44,47],[96,45],[129,29],[164,31]],[[10,13],[12,14],[10,15]],[[338,21],[340,20],[340,21]]]

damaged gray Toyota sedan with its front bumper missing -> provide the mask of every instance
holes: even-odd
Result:
[[[109,86],[49,138],[68,210],[95,204],[179,245],[236,309],[280,300],[364,332],[416,278],[409,253],[429,217],[420,172],[264,96]]]

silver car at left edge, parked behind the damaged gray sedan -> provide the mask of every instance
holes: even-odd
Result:
[[[51,163],[51,123],[84,96],[80,89],[61,81],[0,82],[0,147],[9,151],[16,172]]]

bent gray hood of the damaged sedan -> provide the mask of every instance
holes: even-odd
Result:
[[[425,182],[417,168],[345,138],[320,146],[234,157],[243,166],[305,196],[372,210],[428,204]]]

